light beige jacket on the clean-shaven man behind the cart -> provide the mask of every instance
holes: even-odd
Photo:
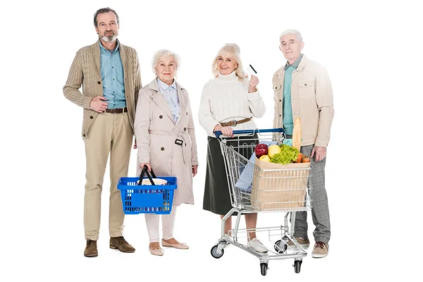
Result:
[[[283,78],[285,66],[273,77],[274,128],[283,127]],[[327,147],[333,120],[333,94],[331,80],[324,66],[302,56],[293,71],[291,84],[293,120],[301,118],[302,146]]]

